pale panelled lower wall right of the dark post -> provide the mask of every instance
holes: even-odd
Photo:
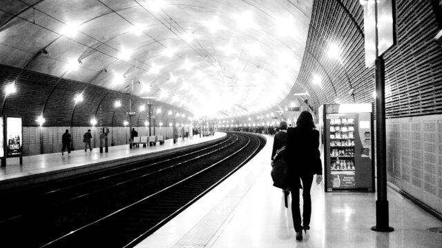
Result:
[[[388,180],[442,213],[442,115],[386,124]]]

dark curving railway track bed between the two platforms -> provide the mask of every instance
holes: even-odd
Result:
[[[46,191],[32,199],[45,207],[9,216],[0,223],[0,233],[11,247],[131,247],[263,145],[249,134],[228,137],[203,150]]]

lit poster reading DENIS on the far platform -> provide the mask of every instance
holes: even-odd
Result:
[[[6,128],[8,157],[23,156],[21,117],[6,117]]]

